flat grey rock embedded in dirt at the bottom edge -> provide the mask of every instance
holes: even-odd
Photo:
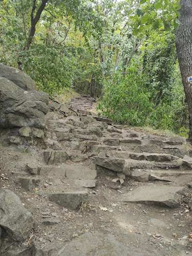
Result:
[[[68,243],[68,245],[63,247],[56,256],[143,256],[145,255],[144,253],[144,250],[138,251],[135,249],[134,251],[131,251],[129,247],[118,242],[113,234],[86,232],[81,234],[79,238]]]

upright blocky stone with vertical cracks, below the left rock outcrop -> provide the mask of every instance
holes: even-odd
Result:
[[[68,154],[66,151],[45,151],[44,159],[47,164],[65,163]]]

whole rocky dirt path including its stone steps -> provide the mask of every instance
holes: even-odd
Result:
[[[192,255],[185,139],[117,129],[95,104],[82,96],[65,105],[68,117],[48,113],[37,147],[7,145],[2,133],[1,186],[34,218],[23,244],[10,248],[4,232],[3,255]]]

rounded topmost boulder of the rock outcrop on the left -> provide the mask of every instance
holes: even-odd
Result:
[[[23,71],[13,67],[0,64],[0,76],[5,77],[15,83],[18,87],[26,91],[36,91],[35,81]],[[9,89],[7,89],[9,90]]]

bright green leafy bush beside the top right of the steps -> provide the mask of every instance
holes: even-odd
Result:
[[[149,95],[144,92],[143,75],[130,69],[124,78],[120,73],[104,81],[104,95],[99,104],[102,114],[115,122],[141,126],[152,111]]]

